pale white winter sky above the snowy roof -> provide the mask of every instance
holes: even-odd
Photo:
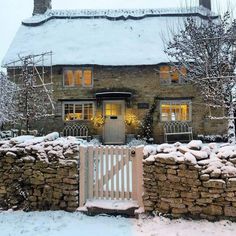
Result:
[[[0,0],[0,65],[23,19],[32,15],[34,0]],[[198,0],[52,0],[53,9],[169,8],[198,5]],[[212,0],[213,10],[227,8],[236,16],[236,0]]]

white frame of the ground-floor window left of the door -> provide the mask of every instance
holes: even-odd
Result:
[[[91,101],[66,101],[62,103],[62,120],[64,122],[75,122],[75,121],[90,121],[84,119],[84,105],[92,104],[92,116],[95,114],[95,103]],[[73,105],[73,113],[75,113],[75,105],[82,105],[82,119],[76,120],[65,120],[65,105]]]

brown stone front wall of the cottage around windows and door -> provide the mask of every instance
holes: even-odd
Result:
[[[199,91],[189,84],[162,85],[159,78],[159,66],[93,66],[94,83],[92,88],[64,87],[62,66],[53,67],[54,100],[56,102],[55,116],[38,122],[38,127],[44,127],[44,132],[60,131],[65,122],[62,119],[63,99],[92,99],[97,105],[95,93],[101,90],[131,91],[133,97],[126,111],[132,112],[138,120],[142,120],[148,109],[138,109],[138,103],[148,103],[151,106],[158,96],[157,109],[154,114],[154,138],[163,142],[163,123],[160,121],[160,101],[164,99],[190,98],[192,100],[192,126],[197,134],[225,134],[224,120],[212,121],[207,119],[208,109],[205,107]],[[75,67],[77,68],[77,67]],[[79,68],[79,67],[78,67]],[[87,68],[87,66],[86,66]],[[102,107],[97,106],[96,112],[101,113]],[[90,128],[91,134],[102,134],[102,129],[96,129],[90,121],[84,121]],[[137,127],[126,126],[126,133],[136,133]]]

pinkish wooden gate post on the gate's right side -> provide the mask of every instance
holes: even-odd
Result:
[[[143,148],[135,148],[135,156],[132,159],[132,199],[143,207]]]

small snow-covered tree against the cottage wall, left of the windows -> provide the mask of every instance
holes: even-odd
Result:
[[[27,131],[32,121],[52,115],[54,109],[51,99],[52,84],[46,85],[41,81],[41,75],[32,59],[33,56],[21,58],[21,74],[18,78],[17,108]]]

